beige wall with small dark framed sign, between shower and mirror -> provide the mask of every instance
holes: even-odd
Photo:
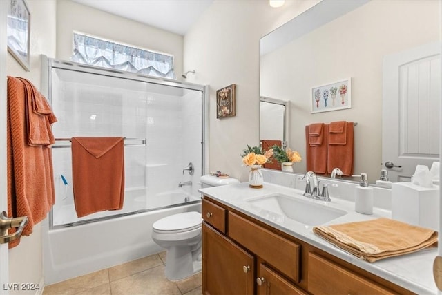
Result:
[[[214,1],[184,37],[184,68],[196,70],[189,82],[210,85],[209,170],[247,181],[240,154],[259,144],[260,37],[318,1]],[[216,91],[236,84],[236,117],[216,118]]]

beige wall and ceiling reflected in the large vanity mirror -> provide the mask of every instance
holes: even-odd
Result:
[[[383,59],[439,41],[439,23],[438,1],[331,0],[262,37],[260,96],[290,102],[287,146],[302,156],[295,172],[306,172],[305,126],[344,120],[357,122],[353,173],[379,179],[383,123],[396,123],[382,117]],[[312,88],[347,78],[351,108],[311,113]],[[272,124],[266,117],[261,126]]]

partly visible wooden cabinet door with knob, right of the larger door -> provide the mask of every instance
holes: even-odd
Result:
[[[295,295],[305,295],[307,292],[302,291],[302,289],[296,287],[294,284],[290,283],[288,280],[280,276],[273,269],[267,267],[267,265],[260,263],[258,268],[258,278],[256,280],[258,283],[258,295],[278,295],[278,294],[295,294]]]

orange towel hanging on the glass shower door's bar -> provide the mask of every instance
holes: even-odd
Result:
[[[77,216],[119,210],[124,201],[124,139],[73,137],[72,170]]]

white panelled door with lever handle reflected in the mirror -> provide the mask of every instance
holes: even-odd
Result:
[[[439,161],[440,100],[439,42],[384,57],[382,162],[392,182]]]

